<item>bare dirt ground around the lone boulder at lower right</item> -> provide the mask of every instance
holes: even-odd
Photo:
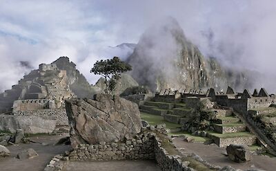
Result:
[[[213,165],[219,165],[224,167],[226,165],[230,165],[236,169],[252,169],[257,168],[261,170],[267,171],[275,171],[276,168],[276,159],[272,159],[268,156],[253,156],[252,161],[248,161],[246,163],[235,163],[230,161],[227,156],[224,156],[224,152],[226,150],[221,147],[217,147],[217,145],[204,145],[202,143],[186,143],[180,138],[175,138],[173,143],[177,146],[177,148],[184,148],[183,152],[187,153],[195,153],[201,156],[202,159],[208,161],[208,163]]]

